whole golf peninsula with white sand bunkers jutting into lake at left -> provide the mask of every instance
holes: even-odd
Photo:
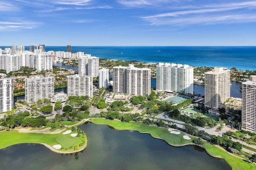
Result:
[[[40,143],[57,153],[73,153],[85,149],[87,138],[77,128],[84,121],[47,123],[43,128],[18,127],[0,132],[0,149],[21,143]],[[58,126],[61,125],[61,126]]]

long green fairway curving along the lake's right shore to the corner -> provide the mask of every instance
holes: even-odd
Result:
[[[109,125],[117,130],[135,130],[140,133],[149,133],[152,137],[160,138],[173,145],[192,143],[192,139],[194,139],[193,137],[191,137],[191,140],[186,140],[183,138],[184,133],[181,133],[180,135],[175,135],[170,133],[170,131],[168,131],[168,129],[166,128],[150,126],[141,122],[124,123],[118,120],[97,119],[97,118],[91,119],[90,122],[96,123],[99,125]],[[232,167],[233,170],[255,170],[256,169],[255,166],[249,164],[248,162],[245,162],[240,158],[236,158],[235,156],[230,155],[226,151],[214,145],[211,145],[207,142],[204,143],[204,147],[210,154],[221,156],[223,159],[225,159],[226,162],[228,162],[228,164]]]

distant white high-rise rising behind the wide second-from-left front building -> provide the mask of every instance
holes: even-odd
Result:
[[[52,70],[52,55],[40,53],[35,56],[35,67],[37,71]]]

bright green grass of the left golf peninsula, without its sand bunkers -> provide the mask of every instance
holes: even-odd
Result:
[[[65,122],[62,122],[63,124]],[[66,122],[68,125],[74,125],[77,122]],[[77,125],[76,125],[77,126]],[[74,126],[74,127],[76,127]],[[70,134],[77,133],[72,132],[69,134],[62,134],[64,131],[60,131],[57,134],[45,134],[45,133],[20,133],[18,130],[2,131],[0,132],[0,149],[9,147],[11,145],[22,143],[40,143],[45,145],[49,149],[57,153],[72,153],[78,150],[83,150],[87,146],[87,138],[72,137]],[[79,146],[84,142],[84,145]],[[61,145],[61,149],[54,149],[54,145]],[[75,146],[79,146],[74,149]]]

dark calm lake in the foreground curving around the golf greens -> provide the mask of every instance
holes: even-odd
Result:
[[[118,131],[88,123],[88,145],[76,154],[57,154],[39,144],[20,144],[0,150],[0,169],[24,170],[231,170],[223,159],[212,158],[196,146],[171,147],[136,131]]]

